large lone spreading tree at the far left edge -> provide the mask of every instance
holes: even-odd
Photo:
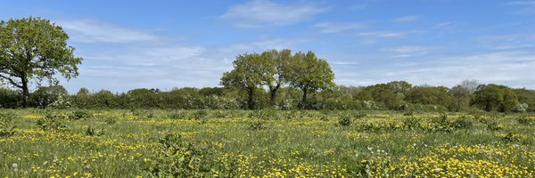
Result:
[[[57,74],[68,80],[78,76],[82,58],[73,56],[69,36],[60,26],[41,18],[0,21],[0,78],[22,90],[28,106],[29,81],[43,79],[57,85]]]

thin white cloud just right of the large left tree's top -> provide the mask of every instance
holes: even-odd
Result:
[[[69,34],[70,39],[82,43],[131,43],[157,40],[150,33],[120,28],[96,20],[63,20],[57,22]]]

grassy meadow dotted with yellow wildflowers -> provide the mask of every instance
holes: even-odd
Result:
[[[2,112],[0,177],[535,176],[525,114]]]

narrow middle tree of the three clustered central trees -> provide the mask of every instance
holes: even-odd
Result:
[[[266,68],[264,84],[268,85],[270,104],[275,105],[276,92],[286,82],[288,64],[292,59],[292,51],[288,49],[281,51],[269,50],[262,53],[262,58],[264,67]]]

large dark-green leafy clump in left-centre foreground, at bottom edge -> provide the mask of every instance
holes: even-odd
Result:
[[[180,134],[167,134],[147,168],[153,177],[206,177],[214,174],[210,144],[185,142]]]

